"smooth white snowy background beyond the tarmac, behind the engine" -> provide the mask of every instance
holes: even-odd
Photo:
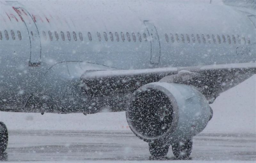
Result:
[[[220,94],[211,104],[212,120],[205,133],[256,133],[256,75]],[[83,114],[0,112],[9,130],[130,131],[125,112]]]

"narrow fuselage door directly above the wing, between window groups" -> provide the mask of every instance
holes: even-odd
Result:
[[[150,42],[150,63],[158,64],[160,61],[161,46],[156,26],[148,20],[144,20],[144,24],[147,28],[147,38]]]

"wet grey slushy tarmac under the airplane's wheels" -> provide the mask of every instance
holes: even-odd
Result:
[[[191,160],[256,160],[255,134],[201,133],[193,138]],[[148,144],[132,131],[9,131],[1,161],[152,160]],[[169,149],[167,158],[172,160]]]

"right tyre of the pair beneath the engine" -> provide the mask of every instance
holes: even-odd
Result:
[[[177,159],[188,159],[192,152],[192,139],[172,144],[172,152]]]

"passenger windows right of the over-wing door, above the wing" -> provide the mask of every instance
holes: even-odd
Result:
[[[190,39],[191,38],[191,39]],[[188,43],[206,43],[206,42],[208,42],[209,44],[211,44],[211,43],[214,43],[214,44],[216,44],[216,42],[218,42],[219,44],[221,44],[221,43],[226,43],[226,42],[228,42],[228,44],[231,44],[231,43],[233,43],[233,44],[246,44],[246,42],[247,42],[247,44],[250,44],[251,43],[251,41],[250,41],[250,39],[248,38],[247,40],[245,40],[245,37],[241,37],[240,38],[240,36],[239,35],[232,35],[232,36],[229,36],[229,35],[227,35],[227,36],[225,36],[225,35],[216,35],[216,37],[215,37],[215,35],[209,35],[209,34],[207,34],[206,36],[204,36],[204,34],[201,34],[201,35],[199,35],[199,34],[196,34],[196,35],[194,35],[194,34],[191,34],[191,35],[188,35],[188,34],[186,34],[186,35],[184,35],[184,34],[170,34],[170,40],[169,40],[169,35],[167,34],[167,33],[165,33],[165,40],[166,40],[166,42],[169,42],[170,40],[172,41],[172,43],[174,43],[175,42],[175,40],[176,40],[176,42],[182,42],[182,43],[185,43],[185,40],[186,40],[186,42],[188,42]]]

